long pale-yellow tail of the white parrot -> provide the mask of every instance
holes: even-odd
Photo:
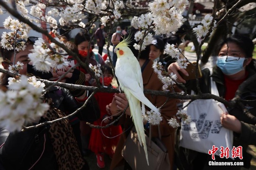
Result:
[[[147,165],[149,165],[148,156],[147,156],[147,147],[146,147],[146,137],[145,137],[145,132],[144,132],[144,124],[143,124],[143,118],[142,118],[142,114],[141,114],[140,101],[136,97],[134,97],[128,90],[125,90],[124,93],[127,95],[127,98],[128,98],[131,116],[132,116],[133,123],[134,123],[134,126],[137,131],[139,143],[140,143],[140,145],[143,145],[143,147],[144,147]]]

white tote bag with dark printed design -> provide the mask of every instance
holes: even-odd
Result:
[[[210,69],[210,73],[212,70]],[[217,86],[211,78],[211,93],[219,96]],[[184,102],[183,106],[188,102]],[[182,122],[180,134],[180,146],[201,153],[208,153],[209,150],[218,147],[215,153],[221,153],[220,146],[229,148],[229,155],[233,147],[233,131],[224,128],[220,123],[221,113],[226,112],[223,103],[214,99],[198,99],[191,102],[184,110],[191,116],[192,122]]]

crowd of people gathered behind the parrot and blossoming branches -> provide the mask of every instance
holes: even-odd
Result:
[[[113,67],[116,65],[117,55],[114,52],[116,45],[119,44],[128,34],[120,26],[116,27],[116,31],[112,34],[111,43],[113,44]],[[58,36],[58,35],[54,35]],[[131,33],[131,36],[134,34]],[[111,85],[114,75],[112,65],[105,62],[102,58],[102,51],[105,45],[106,33],[104,25],[99,25],[95,32],[95,40],[99,47],[98,52],[93,52],[94,44],[91,45],[91,37],[86,32],[79,32],[71,42],[65,37],[61,37],[65,45],[76,53],[82,62],[93,66],[100,64],[102,76],[100,78],[101,85],[106,88],[117,88]],[[19,74],[27,76],[36,76],[47,80],[55,80],[52,73],[44,73],[35,70],[27,55],[33,49],[33,45],[37,38],[28,38],[27,47],[24,51],[20,51],[14,58],[14,51],[7,51],[1,48],[1,56],[3,58],[2,66],[8,69],[9,64],[21,61],[24,64],[23,69],[19,70]],[[92,41],[93,42],[93,41]],[[181,92],[186,87],[198,93],[196,80],[185,81],[180,72],[189,76],[191,72],[181,68],[176,60],[170,58],[164,53],[165,44],[174,44],[183,51],[184,44],[188,41],[184,40],[184,34],[177,36],[168,34],[165,36],[154,36],[154,40],[146,47],[145,51],[140,53],[139,64],[141,67],[143,85],[145,89],[163,91],[162,82],[152,68],[154,61],[163,63],[166,71],[177,75],[177,82],[183,86],[174,85],[170,88],[170,92]],[[180,46],[179,46],[180,45]],[[132,46],[131,46],[132,48]],[[134,49],[132,49],[134,51]],[[255,76],[256,65],[252,58],[254,44],[247,36],[235,34],[219,42],[217,48],[217,63],[213,67],[210,74],[209,69],[202,70],[202,77],[199,79],[199,85],[202,93],[210,93],[210,77],[216,82],[219,96],[223,99],[232,100],[241,84],[250,77]],[[138,53],[134,53],[137,57]],[[15,59],[15,61],[14,61]],[[77,64],[77,60],[70,56],[70,66]],[[68,70],[56,71],[57,76],[64,75],[61,80],[64,83],[97,86],[94,75],[86,68],[77,66],[71,72],[65,74]],[[178,72],[180,71],[180,72]],[[6,90],[8,85],[8,74],[3,73],[0,77],[1,89]],[[255,83],[247,84],[239,92],[241,100],[250,110],[251,114],[256,116],[256,85]],[[30,122],[31,125],[54,120],[69,115],[77,110],[90,96],[91,92],[87,90],[66,89],[60,86],[53,86],[44,94],[44,101],[50,105],[49,110],[37,122]],[[146,94],[146,98],[156,107],[161,107],[161,117],[158,131],[157,126],[152,127],[152,137],[161,136],[161,141],[165,144],[168,152],[168,158],[171,170],[208,170],[208,169],[227,169],[227,167],[209,167],[208,162],[211,156],[206,153],[177,146],[175,139],[177,138],[177,129],[168,124],[168,120],[173,118],[179,110],[179,99],[168,98],[160,95]],[[131,167],[122,156],[123,145],[129,134],[129,130],[134,126],[131,113],[128,106],[128,99],[124,93],[95,93],[94,106],[100,110],[99,115],[90,115],[88,110],[80,110],[75,116],[68,120],[61,120],[52,125],[45,125],[40,128],[34,128],[22,132],[9,132],[6,128],[0,129],[0,169],[2,170],[89,170],[90,167],[86,161],[86,157],[95,154],[97,166],[105,167],[104,157],[108,155],[111,158],[110,170],[115,170],[119,166],[123,166],[124,170],[131,170]],[[148,108],[146,108],[149,110]],[[233,131],[233,145],[235,147],[243,147],[243,159],[232,160],[222,159],[216,156],[217,161],[243,161],[244,167],[250,167],[251,156],[247,153],[248,145],[256,145],[256,122],[244,114],[244,110],[239,106],[227,108],[228,113],[223,113],[220,117],[221,125]],[[114,125],[107,128],[91,128],[87,122],[94,126],[106,126],[113,120],[119,118],[123,110],[125,116],[122,116]],[[149,131],[148,123],[145,122],[145,131]],[[160,133],[160,134],[158,134]],[[38,139],[38,140],[36,140]],[[176,149],[175,149],[176,148]],[[178,148],[178,149],[177,149]],[[133,149],[133,148],[130,148]],[[146,168],[146,167],[145,167]],[[233,166],[228,169],[239,170],[241,166]]]

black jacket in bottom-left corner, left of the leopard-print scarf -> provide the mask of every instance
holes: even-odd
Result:
[[[28,170],[36,162],[32,170],[57,170],[47,130],[47,127],[40,127],[9,133],[4,128],[0,129],[1,142],[5,141],[1,143],[0,162],[5,170]]]

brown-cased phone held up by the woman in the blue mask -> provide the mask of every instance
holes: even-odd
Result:
[[[189,76],[185,76],[181,71],[178,70],[178,73],[181,75],[181,77],[184,80],[191,80],[191,79],[196,79],[196,62],[193,62],[191,64],[188,64],[187,68],[185,70],[188,72]],[[197,78],[202,77],[201,69],[198,66],[198,72],[197,72]]]

